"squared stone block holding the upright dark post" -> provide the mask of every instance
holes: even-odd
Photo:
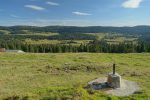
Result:
[[[109,73],[107,84],[112,88],[121,88],[121,76],[118,73]]]

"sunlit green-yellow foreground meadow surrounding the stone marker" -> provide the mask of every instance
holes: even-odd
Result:
[[[0,53],[0,98],[7,100],[150,100],[150,54]],[[111,65],[141,90],[116,97],[87,90],[88,81],[107,76]]]

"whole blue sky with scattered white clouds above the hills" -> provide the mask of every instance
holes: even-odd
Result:
[[[150,25],[150,0],[0,0],[0,26]]]

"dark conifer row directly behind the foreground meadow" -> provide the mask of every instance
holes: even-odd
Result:
[[[92,52],[92,53],[141,53],[150,52],[150,44],[144,42],[108,44],[106,41],[94,40],[88,44],[27,44],[20,40],[0,41],[0,48],[23,50],[31,53],[66,53],[66,52]]]

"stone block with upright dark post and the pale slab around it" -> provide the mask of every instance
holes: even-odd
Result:
[[[115,64],[113,64],[113,71],[108,74],[108,77],[92,80],[88,82],[88,87],[94,90],[103,90],[115,96],[128,96],[140,89],[137,83],[121,79],[121,76],[116,73]]]

